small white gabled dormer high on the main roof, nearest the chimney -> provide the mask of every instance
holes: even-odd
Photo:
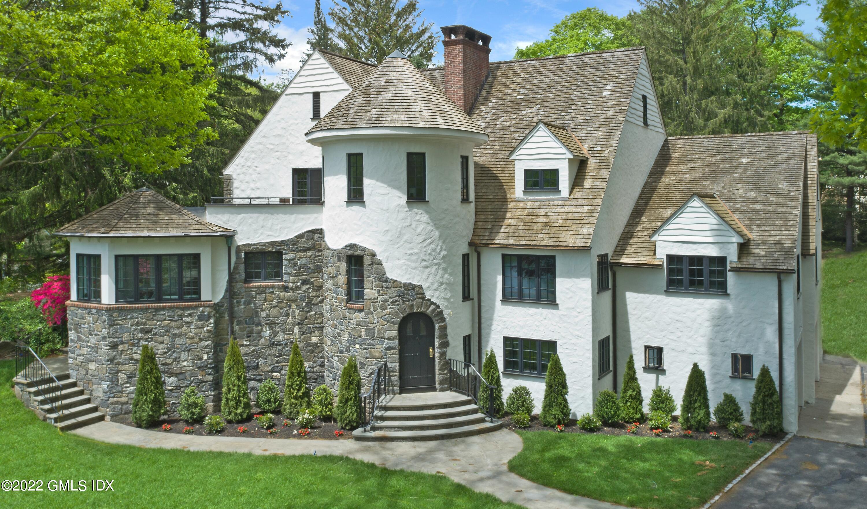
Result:
[[[517,198],[567,199],[578,164],[590,156],[569,129],[538,121],[509,159],[515,161]]]

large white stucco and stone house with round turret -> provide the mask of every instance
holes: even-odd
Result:
[[[767,365],[784,427],[821,352],[816,138],[667,137],[642,48],[489,62],[443,27],[445,65],[316,50],[199,215],[148,189],[64,226],[70,373],[109,417],[156,349],[172,408],[218,403],[229,337],[251,392],[292,343],[336,388],[388,362],[391,387],[445,391],[493,349],[540,406],[551,355],[593,410],[634,356],[645,397],[688,371],[746,407]]]

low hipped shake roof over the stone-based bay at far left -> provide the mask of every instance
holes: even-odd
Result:
[[[147,187],[62,226],[61,237],[231,236],[235,231],[208,223]]]

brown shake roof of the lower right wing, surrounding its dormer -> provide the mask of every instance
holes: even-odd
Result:
[[[611,262],[662,266],[650,235],[693,194],[715,194],[753,236],[740,245],[733,270],[794,271],[804,182],[816,178],[811,146],[816,136],[797,131],[668,138]],[[814,238],[815,219],[811,224]]]

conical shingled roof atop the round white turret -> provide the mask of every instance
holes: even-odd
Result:
[[[405,57],[389,56],[308,134],[356,127],[441,127],[486,134]]]

